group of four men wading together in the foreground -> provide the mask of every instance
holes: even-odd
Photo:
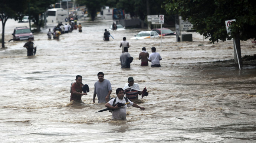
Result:
[[[134,83],[133,77],[129,77],[127,83],[125,83],[124,88],[116,89],[115,98],[111,98],[112,87],[109,80],[104,79],[104,73],[99,72],[97,74],[98,81],[94,84],[93,92],[93,103],[95,103],[95,98],[97,95],[98,103],[106,103],[105,107],[112,110],[112,119],[126,120],[126,108],[136,107],[144,110],[144,107],[140,107],[134,101],[138,100],[138,95],[141,98],[147,96],[147,89],[140,89],[137,83]],[[87,95],[89,91],[88,85],[82,84],[82,76],[76,76],[75,83],[71,84],[70,87],[70,102],[82,102],[82,95]],[[126,97],[124,97],[126,95]]]

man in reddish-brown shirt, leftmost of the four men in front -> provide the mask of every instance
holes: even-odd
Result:
[[[76,102],[82,102],[82,95],[87,95],[87,93],[82,93],[82,76],[76,76],[76,82],[72,84],[71,86],[71,95],[70,95],[70,101],[76,101]]]

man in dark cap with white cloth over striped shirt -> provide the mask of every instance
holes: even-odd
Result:
[[[137,83],[134,83],[133,77],[128,78],[128,83],[126,83],[124,86],[124,92],[126,98],[131,101],[138,99],[138,94],[142,94],[139,85]]]

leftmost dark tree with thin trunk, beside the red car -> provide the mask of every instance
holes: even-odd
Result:
[[[2,21],[2,48],[4,48],[4,27],[9,18],[18,20],[23,17],[26,0],[1,0],[0,19]]]

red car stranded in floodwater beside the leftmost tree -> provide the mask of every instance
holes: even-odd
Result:
[[[34,40],[34,35],[28,27],[16,27],[13,31],[13,40],[27,40],[31,38]]]

